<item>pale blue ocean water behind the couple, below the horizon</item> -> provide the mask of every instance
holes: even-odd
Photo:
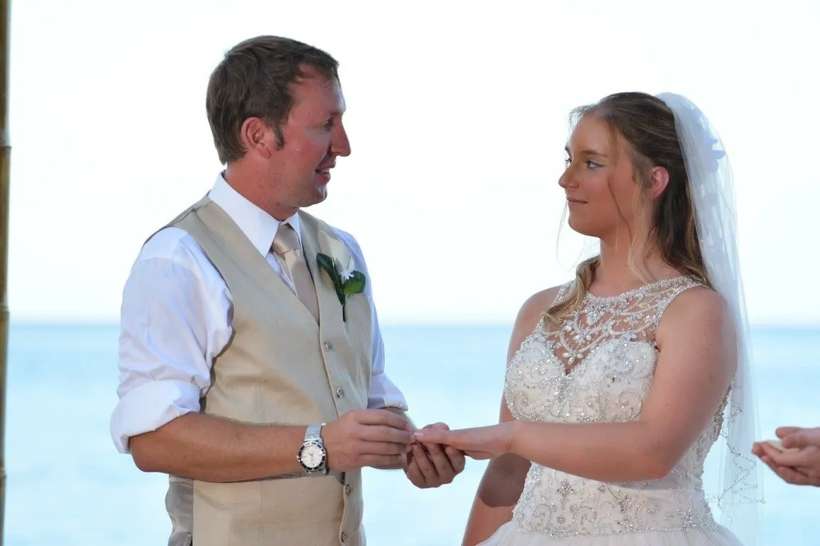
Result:
[[[116,453],[116,325],[12,325],[5,546],[166,544],[166,477]],[[508,326],[388,326],[387,371],[418,425],[453,428],[498,416]],[[820,329],[753,332],[760,424],[820,425]],[[451,485],[416,489],[399,471],[365,471],[373,546],[461,544],[485,462]],[[762,546],[820,544],[820,488],[764,471]]]

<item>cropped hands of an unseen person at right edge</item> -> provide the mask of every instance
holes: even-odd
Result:
[[[775,434],[788,451],[768,442],[756,442],[752,453],[786,483],[820,487],[820,427],[782,426]]]

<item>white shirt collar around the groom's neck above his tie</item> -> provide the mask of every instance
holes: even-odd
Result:
[[[299,229],[298,214],[290,216],[284,222],[276,220],[276,218],[248,201],[247,198],[244,198],[244,196],[233,189],[221,173],[216,177],[216,182],[208,193],[208,197],[230,216],[230,219],[239,226],[239,230],[250,239],[253,247],[256,248],[263,257],[266,257],[268,253],[271,252],[273,238],[276,237],[276,231],[279,230],[279,226],[282,223],[290,224],[294,228],[299,238],[299,244],[302,244],[302,232]]]

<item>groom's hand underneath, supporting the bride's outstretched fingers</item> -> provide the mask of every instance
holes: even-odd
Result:
[[[427,425],[425,429],[449,430],[444,423]],[[440,444],[412,444],[404,473],[420,489],[449,484],[464,470],[464,452]]]

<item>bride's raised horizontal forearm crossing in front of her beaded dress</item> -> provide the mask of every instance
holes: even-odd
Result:
[[[599,481],[661,478],[678,460],[646,423],[515,421],[511,452],[567,474]]]

